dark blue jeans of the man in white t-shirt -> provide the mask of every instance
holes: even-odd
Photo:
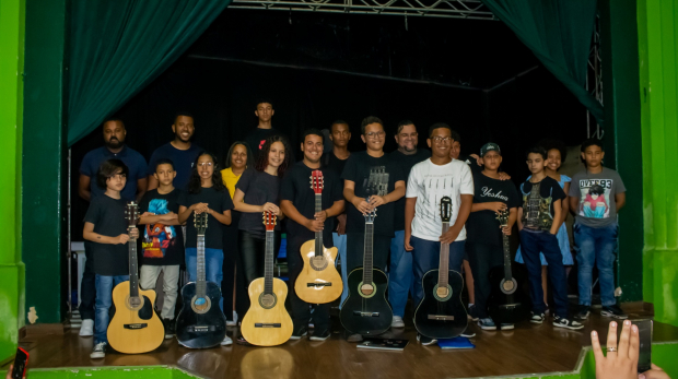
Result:
[[[411,252],[412,263],[414,265],[413,305],[414,308],[417,308],[423,298],[423,288],[421,286],[423,275],[440,267],[441,242],[412,236],[410,237],[410,245],[414,248]],[[456,272],[461,271],[465,251],[464,245],[466,245],[465,240],[454,241],[449,245],[449,270]]]

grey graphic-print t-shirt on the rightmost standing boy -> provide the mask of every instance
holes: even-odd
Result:
[[[607,167],[599,174],[576,173],[570,185],[570,196],[580,198],[576,222],[588,227],[605,227],[617,222],[615,194],[627,188],[616,170]]]

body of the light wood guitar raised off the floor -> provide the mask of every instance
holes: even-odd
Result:
[[[343,282],[335,267],[337,248],[323,247],[323,256],[315,256],[315,240],[308,240],[300,250],[304,268],[294,283],[294,291],[309,304],[326,304],[341,296]]]

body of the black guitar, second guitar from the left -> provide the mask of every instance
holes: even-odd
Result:
[[[208,348],[217,346],[226,336],[226,318],[219,308],[221,289],[212,282],[206,282],[207,304],[197,304],[196,283],[182,288],[182,311],[176,318],[176,339],[183,346]],[[207,309],[207,310],[206,310]]]

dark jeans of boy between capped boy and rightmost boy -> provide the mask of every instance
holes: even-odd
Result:
[[[529,277],[533,312],[540,315],[546,311],[543,288],[541,288],[541,260],[539,259],[539,251],[541,251],[549,263],[549,281],[551,281],[553,301],[556,303],[556,315],[568,318],[568,276],[556,235],[549,232],[523,229],[521,230],[521,249]]]

